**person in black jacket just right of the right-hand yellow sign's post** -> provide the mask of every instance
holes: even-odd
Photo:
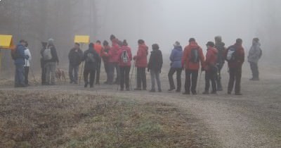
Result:
[[[95,81],[96,76],[96,67],[98,66],[98,63],[100,62],[100,56],[96,52],[96,50],[93,49],[93,43],[89,44],[89,49],[84,51],[83,61],[85,61],[84,66],[84,87],[93,87],[93,83]],[[89,80],[89,74],[90,74],[90,80]]]

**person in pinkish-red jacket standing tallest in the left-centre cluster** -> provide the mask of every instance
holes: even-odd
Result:
[[[118,53],[120,50],[119,47],[119,40],[114,36],[111,35],[110,36],[110,40],[112,42],[112,47],[110,49],[110,51],[108,52],[108,63],[109,63],[109,80],[108,80],[108,84],[112,85],[112,84],[118,84],[119,85],[119,66],[118,66]],[[117,78],[115,80],[115,82],[113,82],[114,78],[115,78],[115,70],[117,72]]]

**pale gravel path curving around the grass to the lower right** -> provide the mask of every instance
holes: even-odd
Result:
[[[277,78],[277,79],[276,79]],[[224,94],[185,96],[162,92],[118,92],[116,86],[96,86],[94,90],[81,86],[63,85],[53,87],[28,87],[14,89],[0,87],[0,90],[49,91],[83,94],[106,94],[138,101],[163,101],[175,104],[186,113],[199,119],[207,131],[203,134],[216,140],[221,147],[281,147],[281,99],[280,78],[261,82],[243,80],[242,97]],[[202,83],[203,85],[203,83]],[[266,88],[266,89],[265,89]],[[164,90],[167,90],[164,84]],[[209,147],[212,147],[209,145]]]

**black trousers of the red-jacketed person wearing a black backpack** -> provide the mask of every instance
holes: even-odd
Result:
[[[197,78],[198,70],[185,70],[185,92],[190,92],[191,85],[191,92],[196,93]]]

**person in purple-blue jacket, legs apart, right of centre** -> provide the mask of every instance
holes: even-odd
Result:
[[[176,42],[174,44],[174,49],[171,51],[170,61],[171,68],[168,73],[170,89],[169,91],[173,91],[176,89],[176,92],[181,92],[181,58],[183,57],[183,47],[181,47],[180,42]],[[177,87],[174,84],[173,75],[176,73],[176,83]]]

